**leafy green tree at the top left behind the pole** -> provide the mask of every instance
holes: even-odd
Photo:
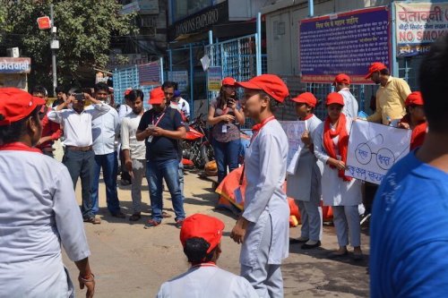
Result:
[[[20,47],[22,55],[31,58],[31,85],[52,85],[51,32],[39,30],[37,24],[38,17],[49,16],[50,4],[54,4],[60,43],[56,52],[59,84],[82,81],[77,73],[82,67],[105,67],[111,38],[136,31],[134,15],[120,15],[122,5],[116,0],[0,0],[0,25],[4,25],[0,26],[0,53],[7,47]]]

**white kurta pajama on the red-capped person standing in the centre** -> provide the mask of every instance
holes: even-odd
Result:
[[[241,275],[260,297],[282,297],[281,260],[289,254],[289,205],[283,183],[288,139],[277,120],[266,123],[246,149]]]

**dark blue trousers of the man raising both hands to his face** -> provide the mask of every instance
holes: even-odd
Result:
[[[82,217],[89,219],[94,217],[93,202],[91,201],[91,181],[93,180],[93,166],[95,164],[95,153],[90,151],[75,151],[65,149],[62,163],[67,167],[73,181],[73,189],[76,189],[78,178],[81,177],[82,187]]]

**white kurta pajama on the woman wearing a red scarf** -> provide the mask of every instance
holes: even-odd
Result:
[[[350,133],[352,120],[347,118],[346,129]],[[338,243],[340,246],[346,246],[350,243],[352,246],[360,246],[361,226],[359,224],[358,205],[362,201],[361,182],[352,179],[349,182],[343,181],[339,176],[337,168],[327,165],[330,158],[323,145],[323,124],[319,124],[314,132],[314,154],[323,162],[322,175],[322,198],[325,206],[332,206],[333,223],[336,227]],[[339,156],[338,148],[339,137],[332,139],[336,156]]]

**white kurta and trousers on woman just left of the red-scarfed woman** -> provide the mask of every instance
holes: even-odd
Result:
[[[313,115],[306,127],[313,142],[314,131],[322,121]],[[322,239],[321,177],[323,164],[314,152],[303,148],[297,160],[296,173],[288,175],[287,195],[297,201],[302,222],[301,237]]]

